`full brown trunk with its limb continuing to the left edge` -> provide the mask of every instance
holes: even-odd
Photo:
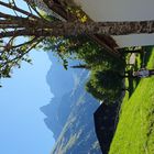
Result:
[[[19,24],[18,24],[19,23]],[[15,21],[21,26],[21,21]],[[1,37],[8,36],[68,36],[82,34],[128,35],[141,33],[154,33],[154,21],[139,22],[44,22],[30,21],[22,25],[23,30],[1,32]],[[30,29],[29,29],[30,28]]]

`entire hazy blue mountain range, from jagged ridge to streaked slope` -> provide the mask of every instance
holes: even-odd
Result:
[[[45,123],[56,141],[53,154],[101,154],[95,133],[94,112],[99,102],[85,91],[88,72],[63,66],[52,61],[46,80],[54,98],[41,108]],[[77,62],[72,62],[76,65]]]

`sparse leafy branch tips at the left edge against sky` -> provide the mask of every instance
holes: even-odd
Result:
[[[14,67],[20,68],[21,62],[32,63],[29,52],[34,48],[37,42],[34,38],[21,44],[15,44],[14,37],[1,40],[0,42],[0,78],[10,78]]]

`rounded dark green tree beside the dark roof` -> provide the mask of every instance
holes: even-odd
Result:
[[[122,90],[121,77],[112,70],[92,72],[86,89],[99,100],[112,102],[117,100]]]

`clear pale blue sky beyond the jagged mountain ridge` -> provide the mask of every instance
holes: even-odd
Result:
[[[0,153],[50,154],[53,134],[44,124],[40,107],[52,94],[45,76],[51,62],[44,52],[33,51],[33,65],[23,63],[0,88]]]

